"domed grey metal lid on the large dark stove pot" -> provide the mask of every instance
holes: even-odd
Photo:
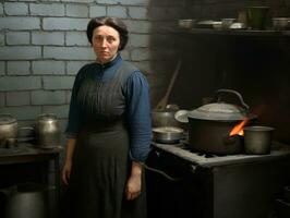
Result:
[[[238,121],[247,117],[247,110],[237,105],[213,102],[189,112],[188,116],[200,120]]]

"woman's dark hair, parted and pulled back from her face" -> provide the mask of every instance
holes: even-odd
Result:
[[[87,35],[88,41],[92,44],[94,29],[102,25],[110,26],[114,28],[116,31],[118,31],[120,35],[119,51],[123,50],[128,43],[128,29],[126,29],[125,24],[120,19],[117,19],[117,17],[99,16],[99,17],[92,19],[88,22],[87,28],[86,28],[86,35]]]

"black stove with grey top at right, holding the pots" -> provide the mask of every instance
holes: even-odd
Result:
[[[268,155],[203,154],[186,143],[153,143],[147,171],[150,218],[274,218],[275,201],[290,184],[290,146],[274,142]]]

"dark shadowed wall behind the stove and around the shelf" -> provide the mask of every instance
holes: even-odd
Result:
[[[179,9],[185,10],[153,22],[156,35],[150,39],[155,48],[152,56],[157,58],[152,66],[164,71],[156,78],[161,82],[154,102],[165,94],[177,60],[181,59],[169,102],[196,108],[216,89],[232,88],[241,93],[261,124],[276,128],[276,140],[290,143],[290,36],[183,34],[177,28],[179,19],[237,17],[247,5],[269,5],[270,17],[290,16],[289,0],[207,0],[181,1]]]

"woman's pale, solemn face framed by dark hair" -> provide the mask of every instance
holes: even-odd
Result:
[[[100,63],[112,60],[120,46],[120,35],[118,31],[110,26],[99,26],[93,32],[93,48]]]

